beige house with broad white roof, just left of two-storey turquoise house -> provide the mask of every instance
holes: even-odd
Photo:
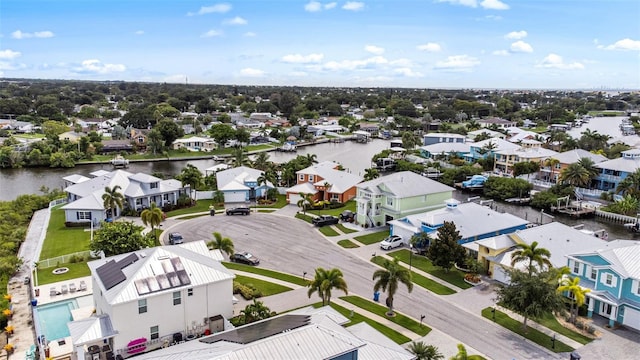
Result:
[[[568,254],[606,244],[605,240],[593,234],[559,222],[550,222],[477,240],[464,246],[477,254],[478,261],[484,264],[492,279],[508,284],[510,280],[505,269],[511,268],[511,256],[517,250],[516,245],[531,245],[534,241],[539,248],[549,250],[549,261],[556,268],[566,265]],[[526,264],[520,263],[516,267],[526,271]]]

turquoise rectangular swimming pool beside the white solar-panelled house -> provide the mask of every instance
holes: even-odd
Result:
[[[73,320],[71,310],[78,308],[75,299],[59,301],[38,306],[38,323],[41,334],[47,341],[63,339],[69,336],[67,323]]]

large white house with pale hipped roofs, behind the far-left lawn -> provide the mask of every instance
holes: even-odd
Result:
[[[79,177],[65,177],[65,181]],[[97,225],[107,218],[117,218],[123,209],[116,208],[115,214],[111,209],[105,209],[102,195],[105,187],[113,189],[120,186],[119,192],[124,197],[124,208],[141,211],[156,203],[159,207],[176,205],[181,195],[189,194],[189,186],[182,186],[178,180],[162,180],[144,173],[133,174],[125,170],[115,170],[102,173],[89,180],[83,180],[67,186],[67,204],[62,207],[65,221],[68,223],[92,222]]]

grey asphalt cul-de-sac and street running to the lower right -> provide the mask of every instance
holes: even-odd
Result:
[[[168,232],[180,232],[185,242],[211,240],[212,233],[219,232],[233,240],[236,251],[249,251],[260,259],[260,266],[302,276],[313,276],[317,267],[342,270],[350,294],[371,298],[372,274],[378,269],[350,254],[345,249],[324,238],[311,224],[295,218],[275,214],[252,213],[249,216],[203,216],[179,222]],[[163,240],[167,241],[166,237]],[[334,296],[342,296],[336,292]],[[384,304],[385,295],[382,294]],[[473,301],[472,298],[470,301]],[[448,301],[446,296],[434,295],[414,286],[409,295],[400,287],[396,294],[396,310],[413,318],[425,314],[425,323],[462,343],[486,354],[492,359],[567,359],[568,354],[547,352],[538,345],[472,314]],[[426,309],[426,310],[425,310]]]

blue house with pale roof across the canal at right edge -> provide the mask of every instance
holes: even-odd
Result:
[[[615,191],[624,178],[640,169],[640,149],[623,151],[621,157],[602,161],[594,166],[600,169],[600,174],[595,178],[596,188]]]

